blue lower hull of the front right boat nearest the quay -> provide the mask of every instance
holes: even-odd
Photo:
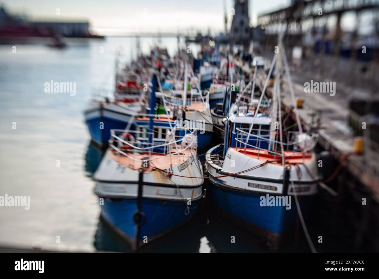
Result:
[[[260,197],[266,196],[264,192],[255,194],[210,184],[207,194],[216,208],[255,235],[279,245],[282,235],[293,232],[298,214],[293,196],[291,209],[286,210],[285,206],[260,206]],[[303,216],[307,215],[309,202],[309,198],[299,197]]]

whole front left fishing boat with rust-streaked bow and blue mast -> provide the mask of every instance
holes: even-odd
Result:
[[[154,75],[151,108],[157,81]],[[111,131],[110,147],[94,174],[102,218],[133,250],[189,221],[203,197],[196,140],[188,141],[196,139],[196,129],[175,136],[176,121],[154,109],[136,122],[135,130]]]

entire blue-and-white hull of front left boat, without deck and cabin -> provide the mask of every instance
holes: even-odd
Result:
[[[105,156],[94,175],[95,193],[103,198],[101,214],[133,249],[171,232],[196,214],[203,197],[202,166],[196,153],[181,164],[144,172],[141,211],[146,222],[139,228],[133,220],[138,211],[139,170],[117,162],[112,151],[107,151]],[[166,172],[198,178],[175,175],[168,178]]]

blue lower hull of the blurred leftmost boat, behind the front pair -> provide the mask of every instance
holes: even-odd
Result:
[[[100,129],[100,122],[104,123],[103,129]],[[86,120],[88,126],[89,134],[91,134],[91,139],[100,146],[107,145],[108,140],[111,136],[111,129],[125,129],[128,122],[117,120],[108,117],[96,117]],[[134,128],[132,125],[131,129]]]

